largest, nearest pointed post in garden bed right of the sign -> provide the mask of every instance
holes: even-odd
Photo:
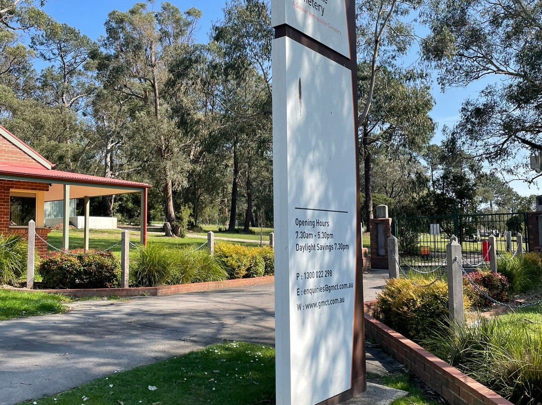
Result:
[[[457,260],[456,260],[457,258]],[[455,240],[446,246],[448,273],[448,310],[450,321],[456,325],[465,324],[463,308],[463,272],[461,271],[461,245]]]

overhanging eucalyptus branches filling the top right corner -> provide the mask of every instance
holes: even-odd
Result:
[[[514,158],[542,153],[542,2],[432,0],[424,17],[423,55],[443,90],[493,80],[463,103],[453,135],[492,171],[531,180]]]

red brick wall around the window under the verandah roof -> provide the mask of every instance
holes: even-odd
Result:
[[[0,137],[0,139],[3,139]],[[20,235],[27,239],[27,228],[10,228],[9,226],[9,192],[10,190],[31,190],[31,191],[48,191],[47,183],[36,183],[31,181],[16,181],[16,180],[0,180],[0,232],[3,234]],[[44,240],[47,240],[47,235],[50,230],[46,228],[37,228],[36,232]],[[47,245],[36,238],[36,252],[44,254],[47,252]]]

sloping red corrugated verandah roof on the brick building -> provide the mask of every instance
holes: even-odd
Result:
[[[0,158],[2,159],[2,158]],[[107,177],[89,176],[87,174],[62,172],[60,170],[29,167],[23,165],[7,164],[6,162],[0,162],[0,177],[2,175],[21,176],[33,179],[41,180],[61,180],[61,181],[74,181],[86,184],[130,187],[130,188],[150,188],[152,187],[146,183],[138,183],[135,181],[127,181],[120,179],[111,179]]]

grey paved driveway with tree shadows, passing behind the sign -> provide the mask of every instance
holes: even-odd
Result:
[[[364,275],[366,301],[385,275]],[[61,315],[0,322],[0,405],[222,340],[274,344],[273,284],[70,306]]]

